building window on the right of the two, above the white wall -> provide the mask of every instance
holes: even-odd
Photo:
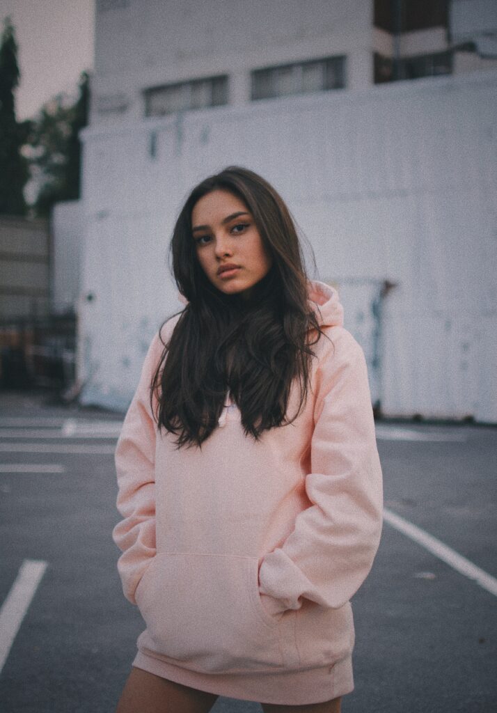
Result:
[[[252,100],[305,94],[345,86],[345,57],[327,57],[252,72]]]

